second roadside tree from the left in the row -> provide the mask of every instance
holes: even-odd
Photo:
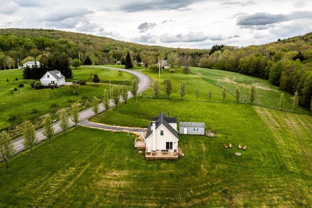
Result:
[[[31,149],[37,144],[38,138],[36,136],[35,127],[30,121],[25,121],[23,124],[23,136],[24,141],[22,144],[26,149],[29,149],[31,154]]]

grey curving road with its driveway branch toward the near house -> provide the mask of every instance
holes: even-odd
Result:
[[[140,71],[133,71],[133,70],[128,70],[128,69],[119,69],[119,68],[112,68],[112,67],[100,67],[100,66],[94,66],[94,67],[109,68],[109,69],[113,69],[113,70],[121,70],[121,71],[124,71],[124,72],[127,72],[127,73],[135,75],[138,78],[138,80],[139,80],[139,82],[138,82],[138,93],[146,90],[150,86],[150,84],[151,84],[150,78],[147,75],[141,73]],[[129,94],[129,98],[131,98],[132,94],[130,92],[128,92],[128,94]],[[113,107],[114,105],[115,104],[111,100],[110,101],[110,107]],[[101,113],[101,112],[103,112],[105,110],[106,109],[104,108],[104,106],[102,104],[100,104],[99,105],[99,113]],[[88,108],[88,109],[85,109],[85,110],[81,111],[80,112],[80,118],[81,118],[81,122],[80,122],[81,124],[80,125],[88,126],[88,124],[90,124],[90,126],[92,126],[93,123],[90,123],[87,120],[88,120],[88,118],[91,118],[93,116],[95,116],[95,113],[91,110],[91,108]],[[68,117],[68,120],[70,122],[70,126],[75,125],[75,123],[72,122],[71,117]],[[58,133],[60,133],[62,131],[61,128],[59,127],[59,122],[54,123],[53,127],[55,129],[54,130],[55,134],[58,134]],[[93,126],[93,127],[95,127],[95,126]],[[104,127],[102,126],[100,128],[104,128]],[[112,129],[112,128],[114,128],[114,126],[110,126],[110,128]],[[117,126],[117,127],[115,126],[115,130],[130,131],[130,129],[128,127],[120,127],[120,126]],[[139,131],[141,131],[141,130],[139,130]],[[42,140],[47,139],[46,136],[44,136],[42,134],[42,128],[36,131],[36,135],[38,137],[38,141],[39,142],[42,141]],[[20,153],[21,151],[23,151],[25,149],[24,146],[22,145],[23,140],[24,140],[23,137],[19,137],[19,138],[13,140],[13,144],[14,144],[14,146],[16,148],[16,154]]]

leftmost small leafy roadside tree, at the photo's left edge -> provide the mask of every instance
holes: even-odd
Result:
[[[6,168],[9,167],[8,161],[15,154],[15,146],[10,135],[6,131],[0,133],[0,159],[5,162]]]

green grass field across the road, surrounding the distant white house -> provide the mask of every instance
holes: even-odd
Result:
[[[97,73],[101,79],[101,83],[109,83],[109,80],[111,80],[115,84],[129,85],[133,79],[133,76],[128,73],[118,76],[118,71],[115,70],[81,67],[74,69],[74,77],[66,80],[66,82],[79,79],[88,80],[89,73]],[[22,70],[18,69],[1,70],[0,77],[0,129],[19,124],[25,120],[37,118],[47,113],[52,113],[52,116],[54,116],[55,112],[60,108],[73,103],[88,102],[94,96],[100,97],[104,89],[109,90],[108,84],[94,85],[92,83],[80,85],[78,93],[75,95],[68,86],[57,89],[34,90],[29,86],[28,80],[23,80]],[[9,82],[6,82],[7,79]],[[92,82],[92,80],[88,81]],[[24,87],[19,87],[20,83],[23,83]],[[14,91],[14,88],[17,88],[17,91]],[[33,108],[36,108],[38,112],[33,112]],[[16,119],[10,119],[13,116]]]

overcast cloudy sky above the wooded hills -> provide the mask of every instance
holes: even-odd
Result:
[[[241,47],[312,32],[312,0],[0,0],[0,28],[168,47]]]

